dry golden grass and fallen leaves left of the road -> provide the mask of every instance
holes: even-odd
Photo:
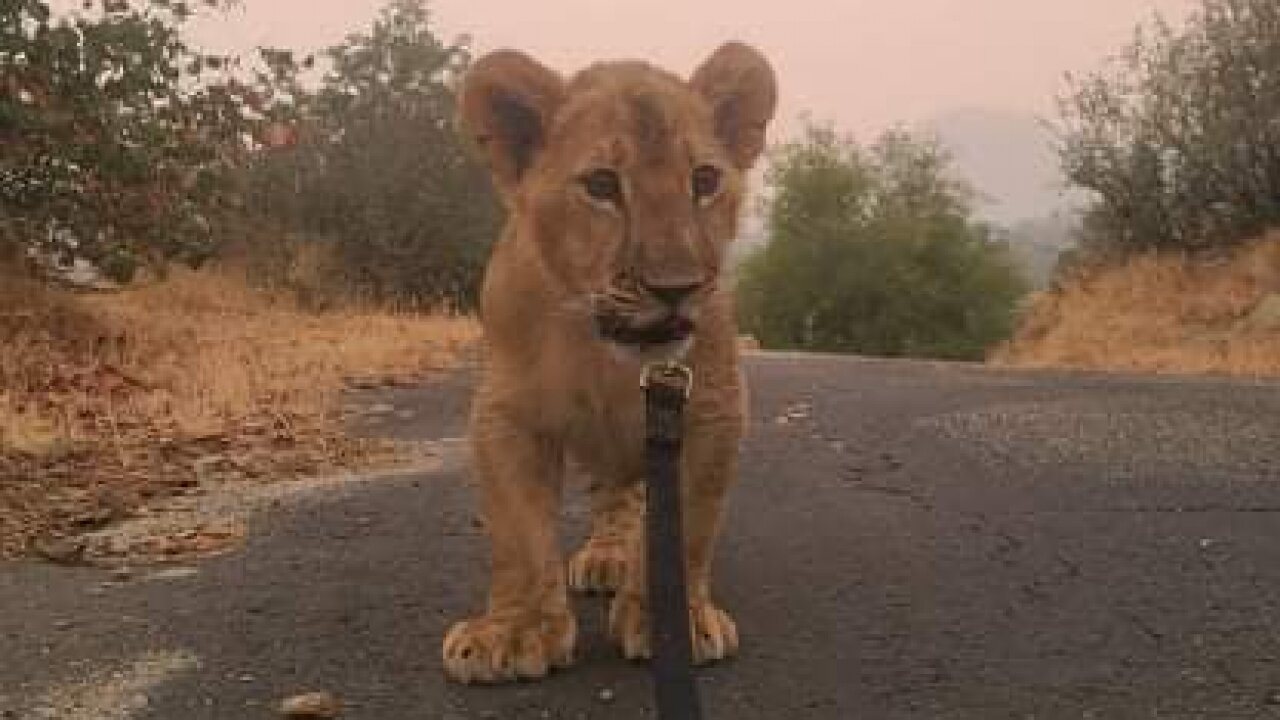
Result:
[[[307,314],[229,272],[97,296],[0,277],[0,555],[189,486],[210,452],[250,477],[358,462],[344,379],[416,377],[474,338],[466,319]]]

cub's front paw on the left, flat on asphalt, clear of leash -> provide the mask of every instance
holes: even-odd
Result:
[[[573,662],[577,624],[572,615],[532,621],[475,618],[444,637],[444,673],[463,684],[497,684],[544,678]]]

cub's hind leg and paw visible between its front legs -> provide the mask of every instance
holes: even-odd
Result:
[[[612,593],[622,587],[627,543],[644,519],[644,486],[593,479],[591,536],[568,565],[568,584],[579,592]]]

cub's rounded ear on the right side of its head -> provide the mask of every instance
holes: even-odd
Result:
[[[694,72],[689,85],[710,102],[716,135],[741,169],[764,151],[764,131],[778,105],[773,68],[741,42],[721,46]]]

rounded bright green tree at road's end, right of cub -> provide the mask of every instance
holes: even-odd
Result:
[[[765,347],[950,359],[1006,338],[1023,286],[948,163],[904,132],[863,147],[810,128],[778,149],[769,242],[740,272],[745,329]]]

